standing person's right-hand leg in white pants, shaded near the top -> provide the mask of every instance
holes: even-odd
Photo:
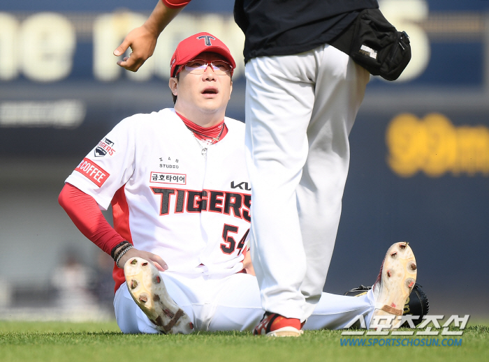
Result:
[[[330,265],[349,169],[349,133],[363,100],[369,73],[330,45],[316,49],[314,110],[307,128],[309,154],[297,188],[307,272],[300,287],[305,315],[321,297]]]

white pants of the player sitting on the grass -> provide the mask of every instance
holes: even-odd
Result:
[[[251,331],[263,317],[254,276],[210,278],[168,271],[160,275],[168,294],[194,322],[194,331]],[[341,329],[358,315],[369,325],[374,306],[371,290],[363,296],[323,293],[304,329]],[[126,283],[117,289],[114,308],[123,333],[159,333],[133,301]]]

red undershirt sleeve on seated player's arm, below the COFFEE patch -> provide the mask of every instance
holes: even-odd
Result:
[[[105,220],[92,196],[66,183],[59,194],[58,202],[80,232],[108,255],[112,248],[124,241]]]

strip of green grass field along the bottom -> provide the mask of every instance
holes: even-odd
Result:
[[[115,322],[0,322],[0,361],[489,361],[489,326],[483,324],[453,336],[462,338],[453,347],[342,347],[340,333],[306,331],[300,338],[247,332],[123,335]],[[435,338],[441,342],[444,336]]]

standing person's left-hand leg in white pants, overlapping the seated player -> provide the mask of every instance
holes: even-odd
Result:
[[[261,302],[268,312],[304,320],[306,257],[295,190],[309,148],[314,53],[251,59],[246,76],[251,259]]]

